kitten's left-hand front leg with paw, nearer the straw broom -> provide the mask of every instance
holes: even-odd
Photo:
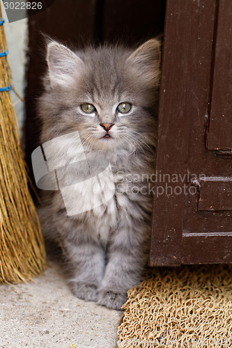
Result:
[[[79,299],[97,300],[97,290],[105,270],[105,252],[93,242],[65,242],[65,255],[71,268],[70,285]]]

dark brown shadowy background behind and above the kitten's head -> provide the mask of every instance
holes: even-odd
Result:
[[[36,99],[42,93],[46,68],[43,34],[77,48],[88,42],[99,45],[118,40],[134,45],[164,31],[165,8],[166,0],[56,0],[47,10],[29,17],[24,143],[32,181],[31,152],[39,145],[40,134]]]

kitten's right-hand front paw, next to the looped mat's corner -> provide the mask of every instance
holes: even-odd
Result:
[[[121,307],[127,301],[127,294],[120,292],[112,292],[100,290],[98,293],[98,304],[111,309],[123,310]]]

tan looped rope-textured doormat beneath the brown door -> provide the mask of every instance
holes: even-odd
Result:
[[[118,347],[232,347],[232,265],[155,268],[128,292]]]

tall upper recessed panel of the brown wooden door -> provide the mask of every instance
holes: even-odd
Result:
[[[218,6],[212,82],[208,150],[232,151],[232,6],[221,0]]]

